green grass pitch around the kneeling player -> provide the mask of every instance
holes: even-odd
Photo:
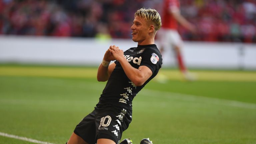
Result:
[[[133,100],[122,139],[139,144],[256,144],[256,72],[162,69]],[[64,144],[97,104],[97,68],[0,65],[0,132]],[[0,144],[32,144],[0,136]]]

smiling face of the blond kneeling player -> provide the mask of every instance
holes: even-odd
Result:
[[[150,25],[145,19],[135,16],[133,20],[132,30],[132,40],[138,42],[138,45],[143,45],[147,38],[149,37],[148,30]]]

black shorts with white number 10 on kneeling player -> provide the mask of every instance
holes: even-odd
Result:
[[[89,144],[105,138],[119,143],[122,133],[132,121],[132,110],[112,105],[97,105],[76,126],[74,133]]]

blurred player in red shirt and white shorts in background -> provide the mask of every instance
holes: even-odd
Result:
[[[196,27],[188,22],[180,13],[180,2],[179,0],[164,0],[162,9],[162,29],[159,30],[157,37],[160,42],[160,52],[163,55],[164,50],[167,48],[173,48],[177,63],[181,73],[186,80],[194,80],[195,77],[192,76],[184,63],[182,57],[182,45],[183,41],[178,33],[178,23],[183,27],[190,30],[191,32],[196,32]]]

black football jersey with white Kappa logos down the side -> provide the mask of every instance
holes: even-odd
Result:
[[[147,66],[152,71],[152,76],[142,86],[136,86],[126,76],[121,64],[115,61],[116,66],[108,79],[98,104],[111,104],[131,110],[133,98],[157,75],[162,65],[162,55],[155,44],[138,45],[138,47],[130,48],[124,52],[124,57],[136,69],[140,66]]]

